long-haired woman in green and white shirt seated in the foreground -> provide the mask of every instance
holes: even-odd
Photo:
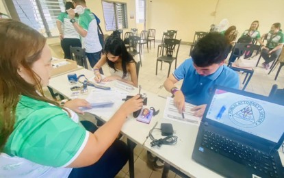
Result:
[[[116,136],[127,115],[142,108],[140,96],[91,133],[75,114],[90,103],[74,99],[62,107],[44,97],[52,68],[46,38],[10,19],[0,19],[0,38],[0,177],[114,177],[128,160]]]

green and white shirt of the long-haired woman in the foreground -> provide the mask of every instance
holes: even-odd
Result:
[[[77,158],[88,140],[88,131],[75,123],[77,114],[70,114],[75,121],[60,107],[21,96],[14,131],[5,154],[0,155],[0,177],[68,176],[72,168],[64,167]]]

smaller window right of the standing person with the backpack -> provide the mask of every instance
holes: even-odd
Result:
[[[105,18],[105,29],[107,31],[127,28],[127,5],[102,1],[103,16]]]

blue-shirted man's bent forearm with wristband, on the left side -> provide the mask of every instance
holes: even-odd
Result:
[[[164,87],[168,92],[172,92],[171,90],[172,88],[175,87],[175,83],[177,83],[177,81],[178,80],[174,77],[174,75],[171,74],[170,77],[168,77],[168,79],[166,79],[166,81],[164,82]],[[185,110],[185,98],[183,92],[177,89],[172,94],[175,96],[174,97],[175,106],[177,107],[179,112],[183,112]]]

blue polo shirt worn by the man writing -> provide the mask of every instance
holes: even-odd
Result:
[[[192,59],[185,60],[173,73],[177,80],[183,79],[181,91],[185,102],[194,105],[203,105],[209,102],[210,92],[214,85],[239,89],[239,75],[227,66],[220,66],[218,70],[207,76],[199,75]]]

